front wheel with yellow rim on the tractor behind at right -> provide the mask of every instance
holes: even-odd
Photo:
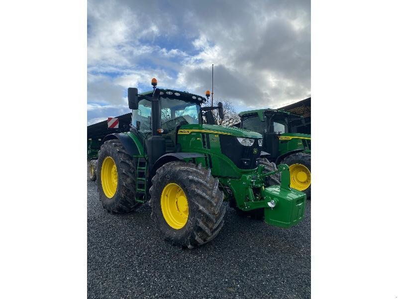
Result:
[[[287,156],[281,162],[289,165],[290,186],[304,192],[311,198],[311,154],[297,152]]]

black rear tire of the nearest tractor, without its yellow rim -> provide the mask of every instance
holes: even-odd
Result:
[[[111,157],[116,165],[116,192],[108,198],[102,188],[101,172],[103,161]],[[109,213],[127,213],[137,209],[141,203],[135,201],[135,170],[136,158],[131,157],[118,139],[103,143],[98,153],[97,191],[103,208]]]

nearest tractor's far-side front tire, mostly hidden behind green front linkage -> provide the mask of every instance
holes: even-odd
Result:
[[[263,164],[265,166],[264,172],[271,172],[271,171],[278,170],[275,163],[268,161],[268,159],[266,159],[266,158],[258,159],[257,163]],[[280,184],[281,184],[281,173],[279,173],[279,172],[276,174],[269,175],[265,178],[265,182],[264,182],[265,187],[269,187],[269,186],[273,186],[273,185],[280,185]],[[234,198],[232,198],[229,201],[229,206],[234,208],[238,215],[249,216],[253,219],[263,219],[264,218],[264,208],[255,209],[255,210],[251,210],[251,211],[242,211],[236,205],[236,201]]]

